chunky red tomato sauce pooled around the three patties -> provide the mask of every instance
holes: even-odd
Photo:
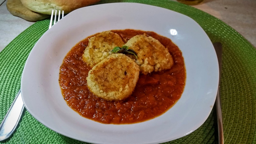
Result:
[[[133,94],[123,101],[106,101],[87,88],[86,77],[91,67],[82,61],[88,37],[74,46],[60,66],[59,83],[68,106],[82,117],[105,124],[131,124],[160,116],[181,97],[185,87],[185,64],[180,49],[169,38],[141,30],[112,30],[126,42],[139,34],[160,41],[174,59],[171,69],[140,74]]]

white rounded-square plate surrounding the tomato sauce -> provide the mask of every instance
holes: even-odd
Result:
[[[146,122],[112,125],[81,117],[63,99],[60,65],[87,36],[124,29],[153,31],[180,48],[187,73],[184,92],[171,109]],[[21,90],[27,111],[64,136],[101,144],[153,144],[186,136],[205,122],[215,102],[218,76],[212,43],[193,19],[152,5],[110,3],[77,9],[44,33],[27,59]]]

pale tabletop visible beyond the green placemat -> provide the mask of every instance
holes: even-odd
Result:
[[[0,52],[35,23],[10,14],[6,2],[0,0]],[[256,0],[204,0],[193,7],[221,19],[256,47]]]

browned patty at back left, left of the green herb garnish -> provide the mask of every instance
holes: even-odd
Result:
[[[122,38],[116,33],[105,31],[89,39],[87,48],[84,50],[83,61],[93,67],[98,62],[108,57],[111,50],[116,46],[123,46]]]

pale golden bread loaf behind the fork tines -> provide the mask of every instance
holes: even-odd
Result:
[[[21,0],[31,11],[41,14],[52,14],[52,10],[61,10],[69,13],[77,8],[92,5],[100,0]]]

